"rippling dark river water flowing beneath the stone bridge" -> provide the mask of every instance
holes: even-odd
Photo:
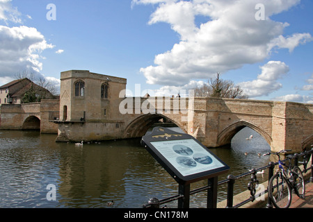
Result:
[[[253,138],[246,140],[250,135]],[[112,200],[109,207],[142,207],[151,197],[177,194],[177,182],[140,145],[140,139],[83,147],[55,139],[56,135],[33,131],[0,131],[0,207],[108,207]],[[257,155],[270,147],[250,128],[235,135],[231,148],[210,151],[230,166],[218,180],[270,162],[268,156]],[[249,179],[236,181],[236,194],[246,190]],[[258,179],[265,181],[267,172]],[[206,181],[196,182],[191,189],[204,185]],[[226,192],[226,186],[219,186],[218,200],[225,199]],[[190,206],[205,207],[206,197],[205,191],[191,196]],[[167,206],[177,207],[177,202]]]

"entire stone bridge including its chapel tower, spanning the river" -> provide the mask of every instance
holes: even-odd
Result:
[[[58,133],[56,142],[142,137],[167,119],[204,146],[230,144],[244,127],[262,135],[272,151],[294,152],[313,144],[313,105],[216,98],[126,97],[125,78],[61,72],[60,100],[2,105],[1,129]]]

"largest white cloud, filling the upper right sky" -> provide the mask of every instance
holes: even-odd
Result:
[[[181,38],[170,51],[155,56],[154,65],[141,68],[147,83],[185,85],[192,79],[210,78],[216,72],[262,62],[273,49],[293,51],[312,40],[308,33],[284,37],[284,28],[289,24],[270,19],[300,0],[263,2],[266,19],[257,21],[255,5],[259,0],[133,0],[133,5],[157,4],[149,24],[166,22]],[[195,26],[199,15],[207,17],[207,22]],[[273,90],[278,87],[274,85]]]

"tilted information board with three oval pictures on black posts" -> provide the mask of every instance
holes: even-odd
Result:
[[[190,184],[208,180],[207,207],[216,207],[217,178],[226,173],[228,167],[207,147],[193,136],[177,133],[168,128],[155,127],[150,135],[141,139],[141,144],[166,169],[179,184],[178,207],[189,207]]]

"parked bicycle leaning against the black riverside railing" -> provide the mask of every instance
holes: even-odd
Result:
[[[288,155],[289,166],[280,160],[280,153],[286,153],[291,150],[282,150],[276,153],[266,153],[264,155],[278,156],[278,170],[268,182],[268,197],[276,208],[288,208],[291,205],[292,194],[294,189],[299,198],[305,196],[305,180],[299,167],[294,166],[291,169],[290,160],[292,155]],[[284,169],[287,167],[287,170]]]

